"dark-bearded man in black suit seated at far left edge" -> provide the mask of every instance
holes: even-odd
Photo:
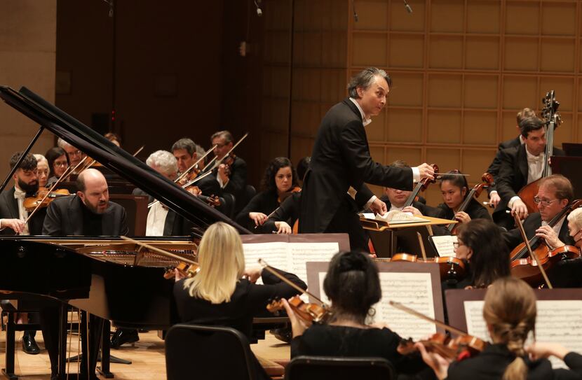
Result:
[[[15,153],[10,160],[10,168],[13,169],[22,157],[22,153]],[[0,195],[0,235],[40,235],[46,209],[39,209],[34,216],[25,223],[29,212],[25,209],[25,198],[32,197],[39,190],[39,181],[36,175],[36,158],[27,154],[20,162],[20,166],[13,175],[14,186]],[[25,319],[25,316],[22,316]],[[29,323],[32,318],[29,315]],[[22,335],[22,351],[32,355],[40,353],[38,344],[34,339],[36,331],[25,331]]]

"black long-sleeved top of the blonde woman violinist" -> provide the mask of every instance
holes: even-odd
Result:
[[[307,288],[306,283],[295,274],[279,272],[300,288]],[[250,283],[248,279],[240,279],[236,283],[230,302],[222,302],[222,304],[211,304],[207,300],[191,297],[189,291],[184,289],[184,279],[177,281],[174,285],[174,298],[180,321],[236,328],[251,339],[253,317],[266,316],[268,313],[266,305],[271,300],[289,298],[298,294],[297,290],[271,272],[263,270],[261,277],[264,285]]]

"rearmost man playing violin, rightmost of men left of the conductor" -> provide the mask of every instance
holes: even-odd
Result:
[[[215,146],[215,165],[217,166],[215,174],[212,174],[212,177],[218,182],[223,193],[227,192],[234,195],[234,215],[236,215],[243,209],[246,202],[250,200],[246,199],[245,195],[247,186],[247,163],[238,155],[234,155],[234,152],[229,154],[231,160],[229,160],[229,157],[226,157],[226,153],[234,146],[231,132],[216,132],[210,136],[210,141],[212,142],[212,146]],[[226,165],[226,161],[231,162]],[[215,169],[214,165],[211,165],[210,169]]]

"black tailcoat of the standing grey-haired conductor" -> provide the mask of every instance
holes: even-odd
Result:
[[[340,207],[347,213],[362,209],[373,195],[366,182],[412,190],[412,169],[372,160],[362,115],[348,98],[327,111],[318,129],[303,183],[299,232],[325,232]],[[353,202],[346,197],[350,186],[358,191],[357,206],[348,203]]]

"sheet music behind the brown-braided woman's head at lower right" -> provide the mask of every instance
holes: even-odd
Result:
[[[484,301],[465,301],[467,332],[489,338],[483,319]],[[582,352],[582,300],[539,300],[536,302],[536,339],[538,342],[560,343],[570,351]],[[490,340],[490,339],[486,339]],[[527,344],[533,342],[530,336]],[[557,358],[550,358],[553,368],[567,368]]]

